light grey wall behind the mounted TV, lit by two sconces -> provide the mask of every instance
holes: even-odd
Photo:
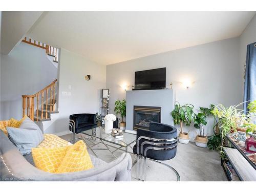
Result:
[[[120,86],[127,84],[131,90],[135,71],[161,67],[166,67],[166,87],[173,82],[176,100],[181,104],[191,103],[199,109],[211,103],[226,106],[240,103],[242,74],[238,53],[239,39],[231,38],[109,65],[106,67],[106,87],[111,91],[110,111],[113,113],[115,100],[125,98],[125,91]],[[189,89],[181,83],[185,78],[194,81]],[[205,133],[212,134],[212,125],[210,119]],[[186,130],[194,130],[193,125]]]

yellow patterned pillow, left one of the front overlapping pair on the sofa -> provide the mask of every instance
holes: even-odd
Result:
[[[54,148],[32,148],[35,166],[44,172],[55,173],[64,159],[69,146]]]

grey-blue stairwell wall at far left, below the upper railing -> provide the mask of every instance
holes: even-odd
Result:
[[[22,118],[22,95],[32,95],[57,78],[46,51],[20,42],[9,55],[1,54],[0,119]]]

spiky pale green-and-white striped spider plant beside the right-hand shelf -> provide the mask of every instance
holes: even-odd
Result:
[[[218,146],[221,155],[223,155],[223,144],[224,138],[227,134],[237,132],[239,128],[248,123],[247,119],[250,117],[249,114],[245,115],[243,110],[237,109],[240,105],[231,105],[229,108],[226,108],[223,104],[218,104],[214,107],[214,110],[211,113],[219,119],[219,128],[220,128],[220,138],[221,142]]]

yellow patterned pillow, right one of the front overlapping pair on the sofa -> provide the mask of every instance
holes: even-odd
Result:
[[[93,168],[93,163],[82,140],[69,146],[67,154],[56,173],[80,172]]]

